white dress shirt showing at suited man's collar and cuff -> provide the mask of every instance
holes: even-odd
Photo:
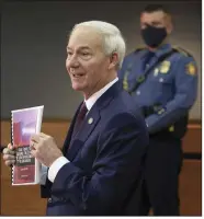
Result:
[[[110,83],[107,83],[104,88],[102,88],[100,91],[95,92],[94,94],[92,94],[88,100],[84,100],[86,102],[86,106],[88,108],[88,113],[91,110],[91,107],[94,105],[94,103],[97,102],[97,100],[109,89],[111,88],[116,81],[118,81],[118,78],[115,78],[113,81],[111,81]],[[50,165],[49,170],[48,170],[48,178],[50,182],[55,181],[55,177],[58,173],[58,171],[66,164],[70,162],[67,158],[65,157],[60,157],[57,160],[55,160],[53,162],[53,164]],[[43,171],[43,170],[42,170]],[[44,170],[45,171],[45,170]],[[47,171],[47,170],[46,170]],[[42,174],[42,181],[41,184],[45,184],[45,173]]]

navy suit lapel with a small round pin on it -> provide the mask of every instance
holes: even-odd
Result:
[[[101,118],[100,112],[113,100],[116,94],[118,94],[118,92],[120,84],[118,82],[116,82],[92,106],[92,108],[86,116],[86,119],[83,120],[80,130],[75,136],[75,138],[71,139],[70,148],[67,151],[67,158],[70,161],[75,159],[91,132],[97,127]]]

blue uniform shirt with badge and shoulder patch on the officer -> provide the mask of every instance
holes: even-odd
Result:
[[[174,53],[170,54],[172,50]],[[165,55],[167,57],[158,62]],[[150,56],[147,48],[127,55],[118,78],[123,89],[135,96],[139,107],[155,107],[155,112],[146,116],[149,132],[177,122],[189,112],[196,99],[196,62],[188,51],[172,48],[170,44],[161,46]],[[139,85],[134,89],[138,82]]]

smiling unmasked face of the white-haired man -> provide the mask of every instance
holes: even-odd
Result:
[[[102,48],[102,38],[91,27],[78,27],[69,38],[66,68],[72,89],[89,97],[105,83],[110,58]]]

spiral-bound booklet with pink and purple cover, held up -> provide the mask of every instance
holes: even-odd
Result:
[[[31,155],[30,138],[42,127],[44,106],[12,111],[12,145],[16,161],[12,166],[12,185],[38,184],[41,163]]]

